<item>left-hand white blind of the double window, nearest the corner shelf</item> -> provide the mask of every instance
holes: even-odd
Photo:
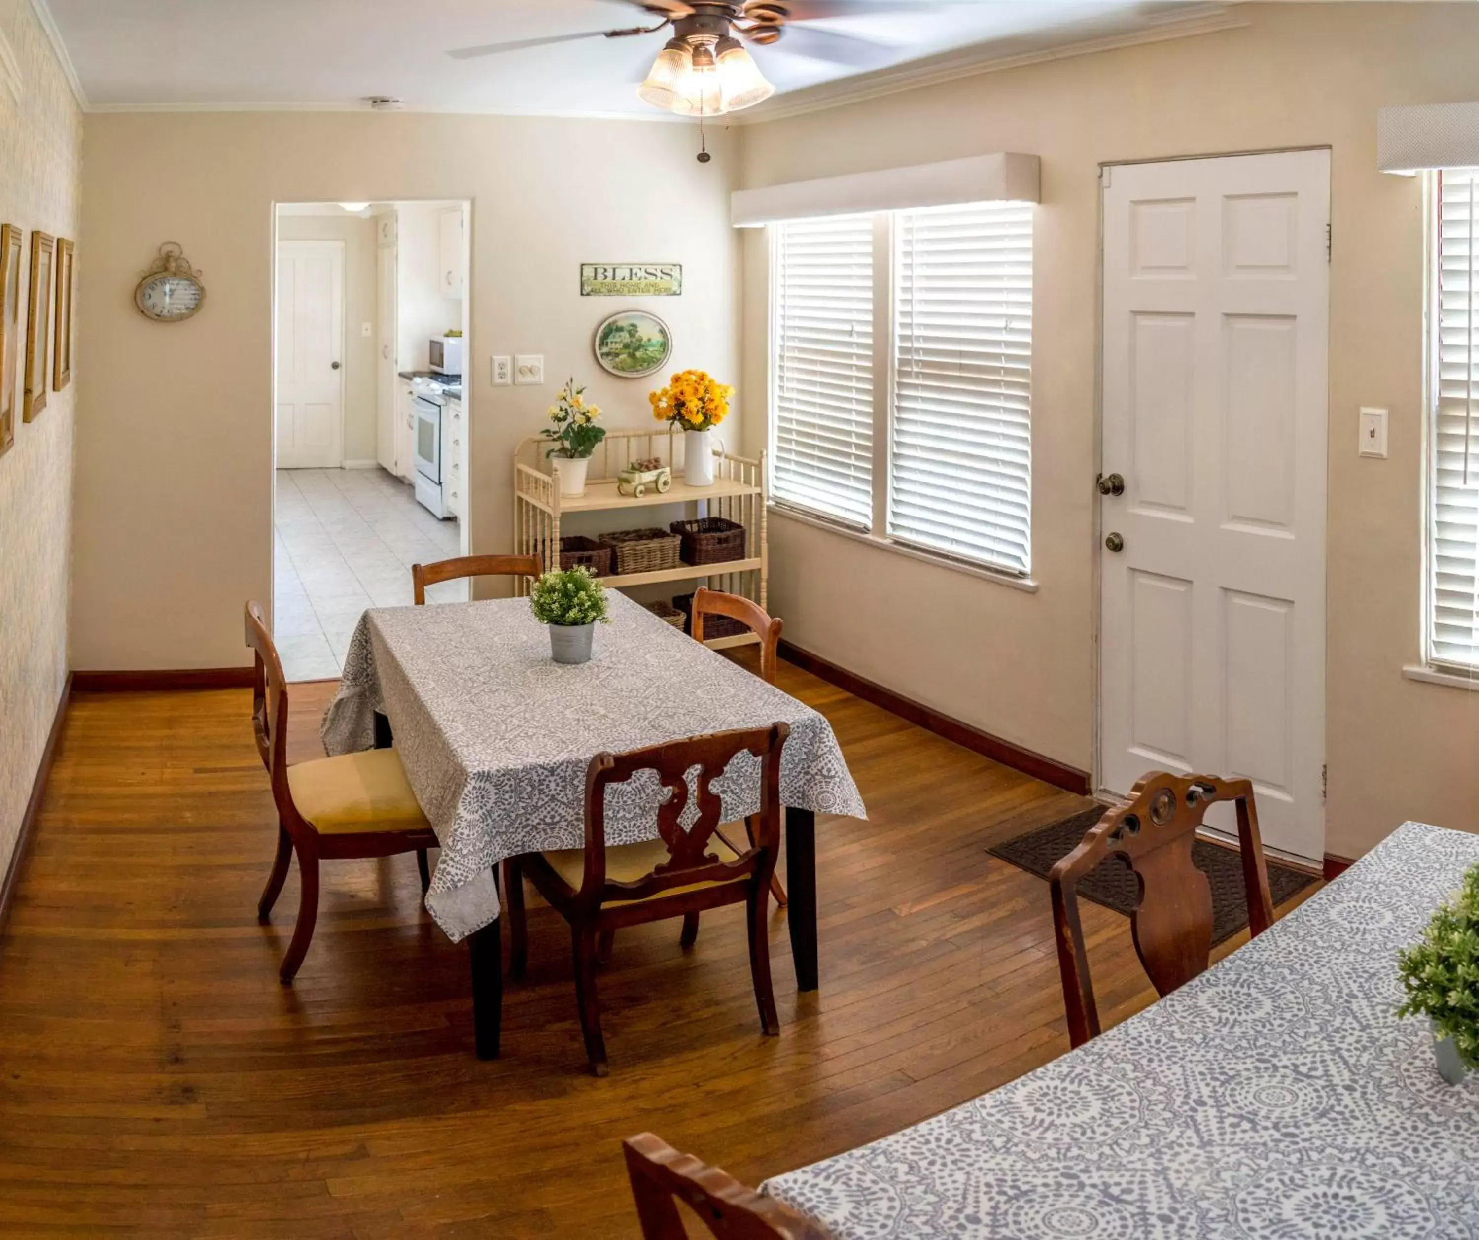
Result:
[[[775,228],[774,498],[873,522],[873,219]]]

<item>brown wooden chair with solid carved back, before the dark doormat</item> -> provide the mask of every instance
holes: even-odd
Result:
[[[1273,924],[1259,811],[1247,779],[1151,771],[1130,795],[1128,805],[1099,819],[1049,875],[1068,1038],[1074,1046],[1099,1035],[1077,887],[1105,857],[1118,857],[1140,879],[1140,903],[1130,913],[1130,934],[1140,964],[1162,998],[1205,972],[1211,958],[1211,884],[1192,863],[1192,842],[1208,805],[1236,803],[1238,851],[1251,934],[1262,934]]]

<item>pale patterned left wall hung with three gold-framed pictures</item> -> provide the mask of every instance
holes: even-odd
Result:
[[[27,0],[0,0],[0,35],[21,68],[21,101],[0,68],[0,222],[25,234],[15,375],[15,446],[0,457],[0,873],[10,863],[25,803],[67,680],[67,569],[72,514],[72,408],[77,381],[49,392],[21,423],[31,232],[78,242],[81,112]],[[74,285],[75,287],[75,285]],[[77,335],[74,333],[74,341]],[[87,368],[74,344],[74,375]],[[47,369],[50,374],[50,369]]]

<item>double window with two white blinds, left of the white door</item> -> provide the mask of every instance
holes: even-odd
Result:
[[[1031,204],[794,220],[774,234],[775,501],[1026,576]],[[876,471],[879,443],[887,469]]]

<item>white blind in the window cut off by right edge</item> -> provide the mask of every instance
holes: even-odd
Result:
[[[1438,174],[1429,659],[1479,667],[1479,168]]]

